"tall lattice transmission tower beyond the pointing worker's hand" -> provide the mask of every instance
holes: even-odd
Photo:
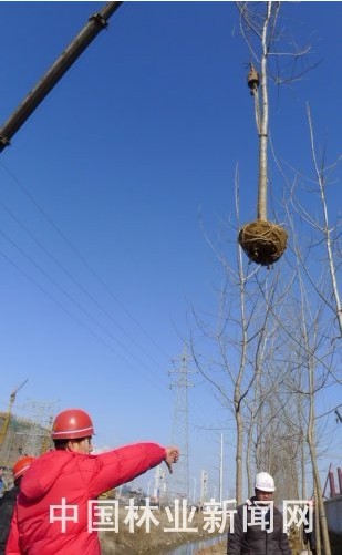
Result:
[[[174,422],[172,430],[172,443],[180,451],[179,461],[175,467],[175,473],[170,480],[169,493],[174,497],[189,499],[189,430],[188,430],[188,388],[193,383],[188,380],[188,374],[193,373],[188,369],[188,354],[186,348],[178,359],[173,362],[177,368],[169,372],[176,374],[176,381],[170,383],[170,388],[176,390]]]

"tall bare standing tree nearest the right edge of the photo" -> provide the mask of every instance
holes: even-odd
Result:
[[[333,222],[331,217],[330,213],[332,210],[328,202],[328,192],[332,193],[333,187],[338,185],[334,183],[333,176],[339,167],[340,157],[336,162],[328,164],[325,150],[319,156],[309,104],[307,104],[307,116],[313,177],[303,175],[299,169],[291,167],[294,177],[292,175],[292,181],[290,181],[276,156],[274,160],[290,192],[289,201],[286,202],[286,209],[291,228],[291,249],[294,256],[294,261],[292,261],[297,266],[297,284],[301,299],[301,308],[298,314],[301,315],[302,323],[298,331],[291,333],[298,343],[297,358],[302,360],[300,368],[304,370],[307,381],[297,382],[293,393],[307,400],[307,402],[301,403],[301,407],[305,409],[303,412],[305,429],[303,428],[303,431],[305,431],[314,482],[314,497],[317,500],[318,553],[321,553],[322,548],[324,553],[330,553],[318,469],[318,446],[320,441],[317,433],[315,403],[324,388],[332,386],[335,388],[341,384],[342,378],[335,362],[338,357],[336,345],[342,335],[342,312],[339,294],[341,235],[339,223]],[[302,184],[303,191],[300,189]],[[334,409],[332,407],[330,411],[327,411],[327,414],[333,412]]]

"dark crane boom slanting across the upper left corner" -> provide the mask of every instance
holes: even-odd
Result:
[[[30,117],[64,73],[77,60],[93,39],[107,27],[107,20],[123,2],[107,2],[102,10],[91,16],[75,39],[69,44],[34,89],[0,129],[0,152],[10,144],[11,137]]]

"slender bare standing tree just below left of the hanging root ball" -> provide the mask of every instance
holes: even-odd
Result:
[[[236,220],[239,220],[239,187],[236,175]],[[231,236],[234,225],[228,227]],[[243,455],[246,425],[250,430],[262,418],[260,405],[274,380],[265,382],[262,394],[258,390],[266,366],[270,367],[276,351],[277,326],[270,317],[280,307],[288,288],[278,291],[280,273],[267,273],[258,277],[259,268],[251,270],[243,260],[242,250],[236,243],[235,264],[207,240],[222,268],[222,284],[219,287],[217,315],[204,315],[193,310],[194,328],[190,338],[191,354],[198,371],[207,379],[219,402],[231,411],[236,424],[236,497],[242,502],[243,463],[247,464],[249,491],[255,464]],[[226,241],[225,241],[226,250]],[[260,287],[267,297],[260,295]],[[278,292],[277,292],[278,291]],[[199,338],[197,340],[197,338]],[[205,345],[206,342],[206,345]],[[200,346],[200,347],[199,347]],[[208,356],[205,353],[209,352]],[[269,388],[269,389],[268,389]],[[273,439],[273,442],[277,441]],[[248,445],[247,445],[248,449]],[[261,462],[260,462],[261,464]]]

